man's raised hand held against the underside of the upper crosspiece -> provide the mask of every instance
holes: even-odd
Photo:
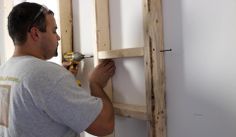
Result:
[[[107,81],[114,75],[115,69],[113,60],[103,60],[92,72],[89,79],[90,83],[98,84],[104,88]]]

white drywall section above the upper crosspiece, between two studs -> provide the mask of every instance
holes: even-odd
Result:
[[[112,49],[143,47],[143,0],[109,0]]]

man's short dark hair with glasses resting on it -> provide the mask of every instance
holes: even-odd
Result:
[[[22,2],[13,7],[8,16],[8,32],[14,44],[23,44],[32,27],[46,32],[45,14],[54,15],[51,10],[37,3]]]

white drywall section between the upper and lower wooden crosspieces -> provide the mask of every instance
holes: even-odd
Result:
[[[113,77],[113,99],[116,103],[145,106],[143,58],[116,59]]]

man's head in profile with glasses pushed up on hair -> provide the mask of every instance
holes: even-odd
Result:
[[[46,59],[51,58],[46,54],[55,48],[55,44],[57,47],[60,40],[53,15],[51,10],[37,3],[16,5],[8,16],[8,31],[14,45],[24,45],[31,39],[34,45],[40,46],[40,52],[45,54]],[[57,55],[56,49],[54,55]]]

